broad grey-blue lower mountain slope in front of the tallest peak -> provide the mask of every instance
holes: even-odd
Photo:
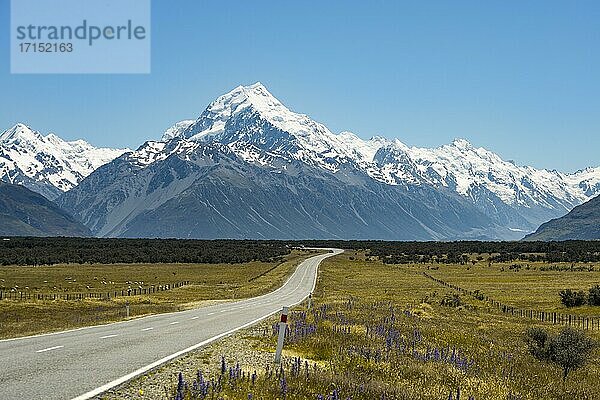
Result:
[[[358,171],[342,180],[297,160],[284,167],[247,162],[218,142],[147,142],[57,202],[109,237],[426,240],[503,232],[469,202],[430,187],[384,185]]]

